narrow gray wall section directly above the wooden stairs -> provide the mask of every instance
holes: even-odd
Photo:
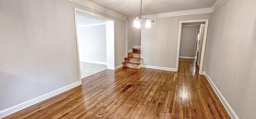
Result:
[[[128,50],[132,50],[133,46],[140,46],[140,33],[141,29],[133,27],[133,19],[130,18],[127,20],[127,41],[128,41]]]

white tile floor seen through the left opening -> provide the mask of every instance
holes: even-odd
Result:
[[[107,65],[90,62],[80,62],[81,79],[107,69]]]

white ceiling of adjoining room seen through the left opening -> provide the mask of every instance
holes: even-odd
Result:
[[[78,26],[94,23],[104,23],[106,21],[108,20],[90,14],[86,14],[84,12],[76,11],[76,23]]]

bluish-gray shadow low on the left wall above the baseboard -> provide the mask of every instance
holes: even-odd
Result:
[[[47,86],[30,79],[2,71],[0,71],[0,77],[0,111],[53,90],[51,87],[46,88]]]

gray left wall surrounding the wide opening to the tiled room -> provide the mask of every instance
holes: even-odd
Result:
[[[125,20],[68,0],[0,1],[0,110],[79,81],[74,7],[115,20],[115,64]]]

